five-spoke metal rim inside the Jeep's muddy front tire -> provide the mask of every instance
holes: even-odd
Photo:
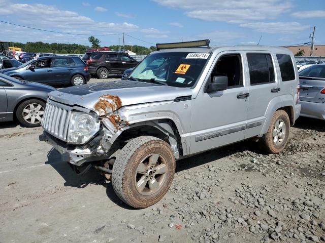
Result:
[[[139,164],[135,183],[137,191],[145,196],[157,192],[166,180],[166,160],[158,153],[146,156]]]

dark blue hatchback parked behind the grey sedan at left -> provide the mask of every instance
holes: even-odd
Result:
[[[86,84],[90,79],[87,65],[78,57],[68,56],[40,57],[0,73],[48,85],[76,86]]]

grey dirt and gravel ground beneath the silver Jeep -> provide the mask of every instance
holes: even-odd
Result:
[[[244,141],[180,160],[143,210],[95,171],[75,175],[41,133],[0,124],[0,242],[325,240],[324,121],[299,118],[278,155]]]

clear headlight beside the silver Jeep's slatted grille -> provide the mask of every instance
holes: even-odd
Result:
[[[71,114],[68,142],[83,144],[87,142],[100,129],[100,122],[96,119],[95,113],[84,113],[74,111]]]

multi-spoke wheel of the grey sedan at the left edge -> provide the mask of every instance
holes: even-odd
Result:
[[[19,123],[27,128],[39,127],[45,111],[45,103],[31,99],[22,102],[17,110],[16,117]]]

